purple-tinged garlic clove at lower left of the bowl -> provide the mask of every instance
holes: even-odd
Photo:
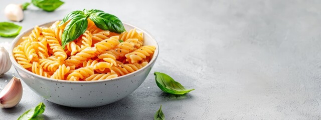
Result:
[[[0,92],[0,107],[11,108],[16,106],[22,98],[22,92],[20,78],[14,76]]]

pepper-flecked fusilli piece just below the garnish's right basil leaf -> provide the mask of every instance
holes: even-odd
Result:
[[[97,42],[94,46],[97,49],[95,53],[100,54],[102,51],[116,47],[119,43],[118,36],[112,36],[108,39]]]

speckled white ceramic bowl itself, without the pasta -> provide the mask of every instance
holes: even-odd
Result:
[[[39,26],[48,27],[54,21]],[[20,33],[12,42],[9,49],[10,59],[21,79],[38,95],[45,99],[64,106],[95,107],[117,101],[133,92],[147,77],[158,56],[158,44],[147,31],[134,25],[123,23],[126,30],[136,28],[144,33],[144,45],[156,46],[150,62],[143,68],[132,73],[112,79],[95,81],[69,81],[47,78],[35,74],[18,64],[13,56],[13,48],[28,36],[33,28]]]

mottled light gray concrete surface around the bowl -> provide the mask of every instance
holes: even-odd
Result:
[[[7,21],[7,4],[24,1],[1,0],[0,21]],[[160,51],[151,73],[127,97],[88,109],[51,103],[24,84],[21,102],[0,109],[0,119],[16,119],[39,102],[46,119],[152,119],[161,104],[167,119],[321,118],[320,0],[64,1],[54,12],[30,7],[17,24],[25,30],[72,10],[102,9],[154,35]],[[0,45],[12,40],[0,37]],[[166,94],[153,71],[195,90]]]

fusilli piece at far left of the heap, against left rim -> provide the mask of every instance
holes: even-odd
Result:
[[[25,52],[22,48],[22,45],[18,45],[14,48],[13,53],[15,58],[18,60],[17,62],[23,66],[24,68],[30,68],[32,64],[30,63],[30,60],[26,57]]]

